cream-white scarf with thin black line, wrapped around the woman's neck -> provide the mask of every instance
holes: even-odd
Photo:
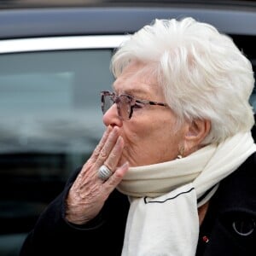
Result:
[[[131,201],[122,256],[194,256],[199,235],[197,207],[255,151],[247,132],[183,159],[131,167],[118,186]],[[201,195],[214,186],[198,205]]]

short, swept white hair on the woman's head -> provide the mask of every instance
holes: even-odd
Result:
[[[193,18],[154,20],[114,53],[117,78],[131,61],[154,67],[166,103],[184,120],[209,119],[203,141],[219,143],[253,127],[253,67],[232,39]]]

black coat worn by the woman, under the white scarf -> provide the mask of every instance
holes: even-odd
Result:
[[[253,154],[220,183],[201,224],[196,256],[256,255],[255,163]],[[125,195],[114,190],[99,216],[83,227],[64,220],[67,191],[78,172],[38,218],[20,256],[120,255],[129,210]]]

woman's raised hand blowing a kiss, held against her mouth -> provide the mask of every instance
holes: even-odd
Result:
[[[108,127],[90,159],[84,164],[67,196],[66,218],[73,224],[85,224],[101,211],[108,195],[128,170],[128,163],[117,167],[125,146],[119,128]],[[108,166],[113,175],[106,181],[98,177],[98,170]]]

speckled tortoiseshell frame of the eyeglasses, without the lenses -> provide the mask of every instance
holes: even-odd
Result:
[[[166,103],[163,102],[154,102],[154,101],[149,101],[149,100],[141,100],[141,99],[137,99],[133,96],[127,95],[127,94],[120,94],[119,96],[117,96],[114,92],[111,92],[109,90],[102,90],[101,91],[101,102],[102,102],[102,113],[106,113],[107,111],[104,111],[104,106],[105,106],[105,96],[110,96],[110,99],[113,101],[113,104],[117,105],[117,109],[118,109],[118,114],[119,114],[119,118],[120,119],[125,119],[122,116],[122,112],[121,112],[121,107],[120,107],[120,102],[122,102],[121,97],[126,97],[129,101],[127,101],[126,104],[129,104],[130,107],[130,112],[128,115],[128,119],[131,119],[132,113],[133,113],[133,108],[136,106],[136,103],[141,103],[144,105],[152,105],[152,106],[161,106],[161,107],[169,107]],[[113,105],[111,105],[112,107]],[[110,107],[110,108],[111,108]],[[109,109],[109,108],[108,108]]]

